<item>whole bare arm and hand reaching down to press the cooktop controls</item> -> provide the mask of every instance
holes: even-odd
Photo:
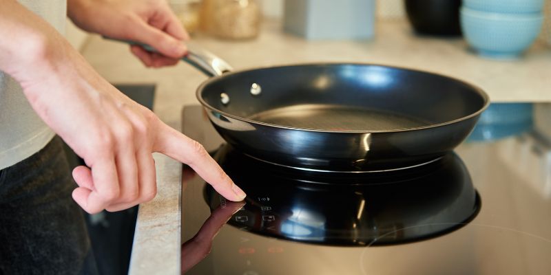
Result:
[[[81,156],[73,198],[90,213],[122,210],[156,194],[152,152],[191,166],[221,195],[241,200],[204,148],[161,122],[99,76],[48,23],[0,0],[0,70],[17,80],[34,111]]]

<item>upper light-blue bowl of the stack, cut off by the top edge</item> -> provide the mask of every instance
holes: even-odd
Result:
[[[539,13],[543,0],[463,0],[463,6],[481,12]]]

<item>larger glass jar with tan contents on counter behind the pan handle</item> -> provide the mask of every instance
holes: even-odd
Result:
[[[212,1],[211,32],[223,39],[251,39],[260,32],[262,15],[256,0]]]

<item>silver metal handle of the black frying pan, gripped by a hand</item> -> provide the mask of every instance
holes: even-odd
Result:
[[[112,41],[127,43],[129,45],[138,45],[143,47],[148,52],[158,52],[154,47],[145,43],[130,40],[113,39],[107,36],[103,36],[103,38]],[[233,71],[233,68],[226,61],[222,60],[222,58],[219,58],[218,56],[207,50],[200,49],[193,44],[190,45],[189,43],[187,44],[187,54],[183,56],[182,61],[189,63],[207,76],[221,76],[226,72]]]

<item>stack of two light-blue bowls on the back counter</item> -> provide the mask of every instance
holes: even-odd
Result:
[[[537,38],[543,0],[464,0],[461,30],[473,50],[490,58],[517,58]]]

